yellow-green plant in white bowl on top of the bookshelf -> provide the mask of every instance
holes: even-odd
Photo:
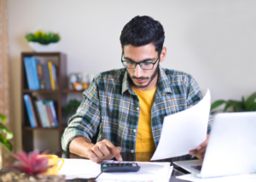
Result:
[[[52,31],[38,30],[27,33],[26,40],[35,52],[52,52],[55,51],[61,37],[58,33]]]

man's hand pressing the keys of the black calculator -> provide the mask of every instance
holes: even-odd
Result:
[[[86,153],[92,162],[102,162],[103,160],[112,159],[113,156],[116,160],[122,162],[121,151],[121,147],[114,146],[108,139],[103,139],[87,149]]]

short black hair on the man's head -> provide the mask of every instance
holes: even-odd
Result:
[[[136,16],[123,28],[120,36],[122,48],[125,45],[139,47],[154,43],[154,48],[160,54],[165,41],[165,31],[159,21],[150,16]]]

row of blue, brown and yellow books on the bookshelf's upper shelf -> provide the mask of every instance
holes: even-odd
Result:
[[[43,64],[35,57],[25,57],[24,65],[30,90],[58,88],[56,65],[53,65],[51,61]]]

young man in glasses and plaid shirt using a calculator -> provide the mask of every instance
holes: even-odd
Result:
[[[102,72],[89,88],[62,135],[64,151],[102,162],[121,151],[154,152],[163,118],[202,99],[195,79],[182,71],[160,67],[166,59],[165,32],[159,21],[137,16],[121,32],[121,61],[125,68]],[[209,116],[208,134],[212,126]],[[97,143],[90,139],[96,134]],[[182,128],[181,128],[182,129]],[[203,158],[208,141],[190,155]]]

